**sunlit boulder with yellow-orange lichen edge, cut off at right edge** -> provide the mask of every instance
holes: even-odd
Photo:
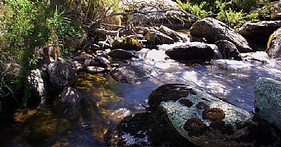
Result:
[[[271,34],[266,52],[273,59],[281,59],[281,27]]]

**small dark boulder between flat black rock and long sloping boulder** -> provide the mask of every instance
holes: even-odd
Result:
[[[238,61],[242,60],[240,52],[237,50],[236,46],[230,41],[221,40],[216,41],[216,46],[220,50],[223,59],[235,59]]]

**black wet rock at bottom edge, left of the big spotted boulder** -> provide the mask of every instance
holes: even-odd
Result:
[[[195,146],[181,137],[161,115],[137,113],[124,118],[108,134],[106,146]]]

